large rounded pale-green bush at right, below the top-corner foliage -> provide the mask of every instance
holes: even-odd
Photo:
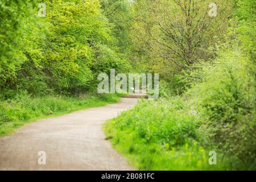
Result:
[[[247,168],[255,165],[256,158],[252,64],[241,50],[225,49],[212,65],[203,65],[203,80],[195,82],[186,96],[191,98],[190,105],[196,106],[197,117],[203,123],[203,143],[214,143],[227,156],[236,156],[242,166],[246,163]]]

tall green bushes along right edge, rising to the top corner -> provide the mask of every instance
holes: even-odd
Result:
[[[237,5],[237,27],[229,30],[229,36],[236,35],[236,39],[227,40],[213,63],[197,69],[201,78],[193,82],[185,97],[191,98],[190,105],[203,123],[201,143],[216,146],[234,169],[255,169],[256,26],[249,22],[255,14],[252,1]]]

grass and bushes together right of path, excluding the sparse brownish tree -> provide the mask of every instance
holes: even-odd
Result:
[[[214,59],[179,74],[181,96],[170,97],[172,82],[162,82],[163,98],[142,101],[105,126],[138,169],[256,169],[255,2],[234,4]],[[216,151],[217,165],[193,143]]]

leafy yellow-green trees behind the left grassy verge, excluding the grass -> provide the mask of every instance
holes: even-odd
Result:
[[[1,96],[92,90],[100,72],[130,69],[129,1],[1,1]]]

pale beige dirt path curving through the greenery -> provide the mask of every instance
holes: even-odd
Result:
[[[102,124],[136,103],[137,98],[121,98],[117,104],[29,123],[0,138],[0,169],[133,170],[105,140]],[[46,164],[39,164],[39,151],[46,152]]]

